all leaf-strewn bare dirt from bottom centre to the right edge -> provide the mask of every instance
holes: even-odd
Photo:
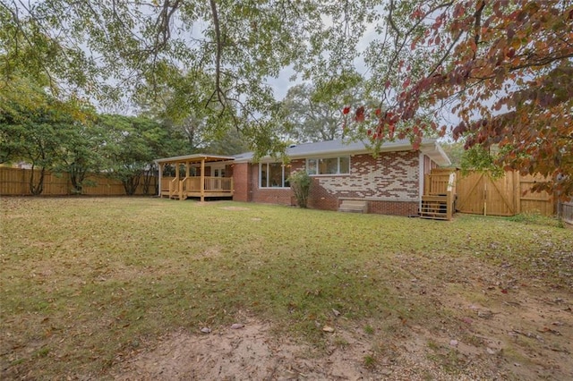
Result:
[[[504,266],[476,268],[463,258],[403,255],[395,263],[412,277],[396,287],[440,306],[443,320],[410,324],[394,314],[385,322],[340,317],[333,333],[323,333],[326,345],[315,348],[269,322],[244,318],[241,329],[166,334],[118,362],[112,376],[123,381],[573,379],[569,290],[542,287]],[[430,276],[429,268],[448,271]],[[365,326],[377,328],[366,332]]]

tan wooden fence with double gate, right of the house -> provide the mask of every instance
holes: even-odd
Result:
[[[462,213],[484,216],[514,216],[520,213],[555,214],[552,194],[533,191],[543,177],[506,172],[503,177],[474,172],[458,175],[456,209]]]

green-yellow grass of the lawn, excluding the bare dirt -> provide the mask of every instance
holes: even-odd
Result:
[[[106,377],[147,338],[244,317],[319,347],[317,322],[373,334],[447,321],[451,311],[415,278],[463,284],[458,265],[573,285],[571,230],[537,219],[436,222],[143,198],[0,202],[0,368],[33,378]]]

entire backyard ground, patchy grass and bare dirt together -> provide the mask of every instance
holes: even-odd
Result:
[[[573,378],[551,219],[0,202],[2,379]]]

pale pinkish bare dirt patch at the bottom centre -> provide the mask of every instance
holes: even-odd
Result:
[[[269,328],[269,324],[250,321],[240,329],[227,327],[210,334],[186,331],[168,334],[154,350],[125,361],[116,379],[357,379],[363,376],[360,360],[352,358],[352,353],[334,351],[325,359],[309,357],[306,345],[270,334]]]

